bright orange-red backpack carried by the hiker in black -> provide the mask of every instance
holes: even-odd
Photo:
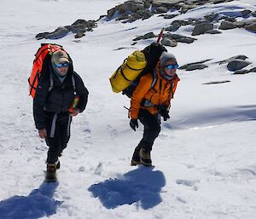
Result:
[[[47,55],[52,55],[55,51],[58,50],[65,51],[61,45],[51,43],[42,43],[41,47],[38,49],[38,52],[35,55],[36,57],[33,61],[31,75],[28,78],[29,95],[31,95],[32,98],[34,98],[35,96],[36,89],[38,87],[38,82],[41,78],[45,58],[47,57]]]

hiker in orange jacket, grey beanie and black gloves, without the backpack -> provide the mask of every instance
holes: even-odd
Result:
[[[150,152],[160,133],[160,117],[164,121],[170,118],[171,100],[179,81],[177,67],[176,57],[163,52],[154,74],[143,75],[131,96],[131,129],[136,131],[138,119],[144,125],[143,139],[134,150],[131,165],[152,165]]]

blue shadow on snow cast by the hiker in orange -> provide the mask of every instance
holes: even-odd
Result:
[[[139,167],[118,178],[91,185],[88,190],[107,209],[133,203],[145,210],[153,208],[162,201],[161,187],[166,185],[164,174],[153,169],[154,167]]]

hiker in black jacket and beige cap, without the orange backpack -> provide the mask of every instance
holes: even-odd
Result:
[[[46,180],[55,181],[59,157],[70,138],[72,117],[84,111],[89,92],[79,74],[73,71],[73,62],[65,51],[49,55],[42,71],[33,99],[33,117],[38,135],[49,146]],[[79,98],[79,102],[72,108],[75,98]]]

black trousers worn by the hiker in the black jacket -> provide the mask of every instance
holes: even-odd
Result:
[[[61,152],[67,147],[70,138],[70,124],[72,117],[68,112],[44,114],[47,137],[46,144],[49,147],[46,162],[54,164]]]

